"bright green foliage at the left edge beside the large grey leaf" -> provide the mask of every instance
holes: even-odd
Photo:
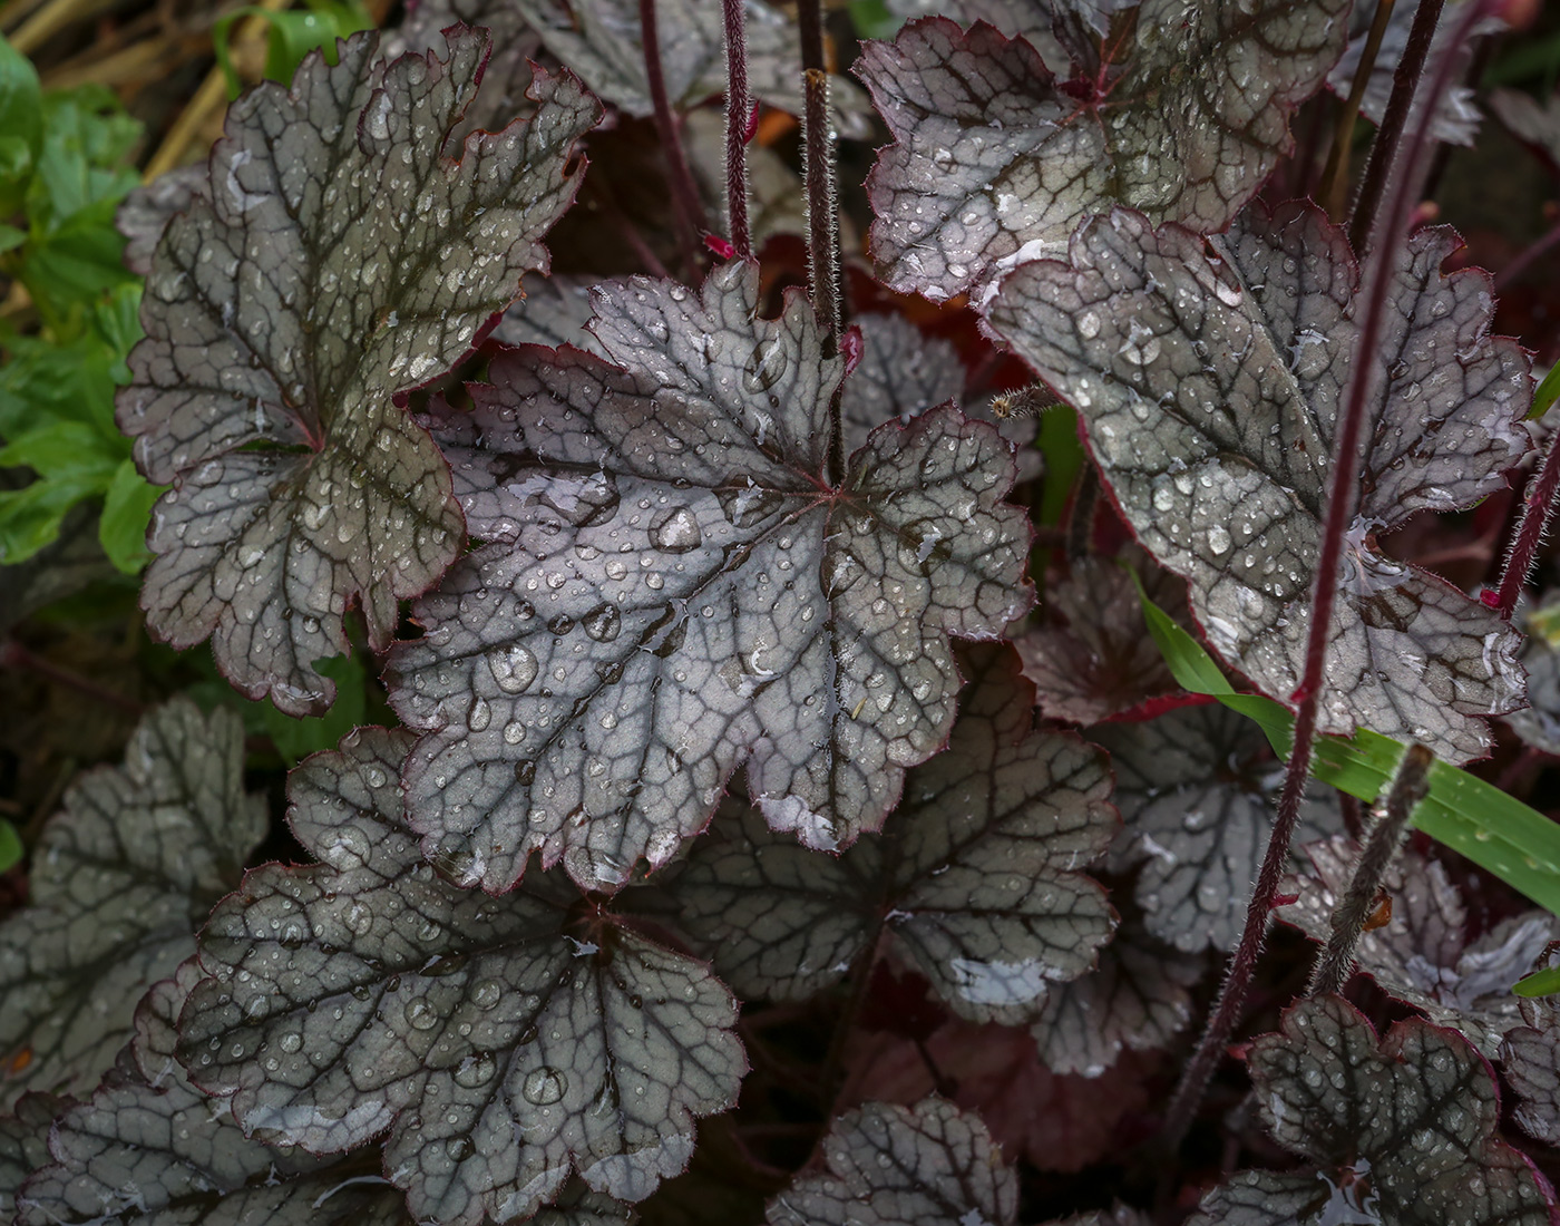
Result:
[[[0,468],[34,473],[0,488],[0,563],[33,555],[66,512],[101,498],[103,549],[134,574],[159,491],[114,426],[140,338],[140,279],[120,264],[114,212],[137,182],[140,125],[100,87],[44,94],[0,42],[0,276],[22,285],[39,323],[23,332],[0,318]]]

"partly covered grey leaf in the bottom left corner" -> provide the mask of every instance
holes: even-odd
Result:
[[[103,1086],[59,1115],[53,1165],[36,1164],[23,1185],[19,1226],[409,1226],[378,1153],[332,1162],[250,1139],[226,1104],[189,1084],[173,1061],[175,1022],[200,978],[192,959],[147,995]]]

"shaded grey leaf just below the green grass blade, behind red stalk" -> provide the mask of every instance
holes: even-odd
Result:
[[[1234,948],[1284,780],[1260,730],[1211,703],[1089,736],[1111,750],[1123,824],[1111,863],[1137,869],[1148,931],[1192,953]],[[1303,841],[1337,833],[1335,792],[1312,783],[1299,822]]]

